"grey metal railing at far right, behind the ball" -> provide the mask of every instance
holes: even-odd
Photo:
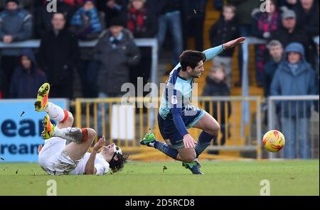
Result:
[[[270,96],[268,129],[282,131],[286,141],[270,158],[319,158],[319,95]]]

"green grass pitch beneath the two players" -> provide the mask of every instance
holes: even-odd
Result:
[[[166,170],[164,170],[166,166]],[[50,176],[36,163],[0,163],[0,195],[46,195],[49,179],[58,195],[318,195],[319,160],[201,161],[205,175],[191,175],[181,162],[129,162],[104,176]]]

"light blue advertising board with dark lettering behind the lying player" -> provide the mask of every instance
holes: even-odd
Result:
[[[38,145],[43,145],[42,119],[34,110],[34,99],[0,100],[0,163],[38,162]],[[50,102],[68,109],[67,99]]]

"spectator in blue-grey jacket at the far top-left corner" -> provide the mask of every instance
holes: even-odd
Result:
[[[32,16],[27,11],[19,9],[18,5],[18,0],[6,0],[6,10],[0,13],[1,42],[13,43],[31,38]],[[11,81],[20,53],[21,50],[1,50],[0,69],[4,71],[8,81]],[[8,90],[9,88],[5,89]]]

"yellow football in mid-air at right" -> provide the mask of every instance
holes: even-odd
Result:
[[[284,143],[284,136],[280,131],[268,131],[265,133],[265,136],[263,136],[263,145],[272,153],[279,152],[279,150],[284,147]]]

